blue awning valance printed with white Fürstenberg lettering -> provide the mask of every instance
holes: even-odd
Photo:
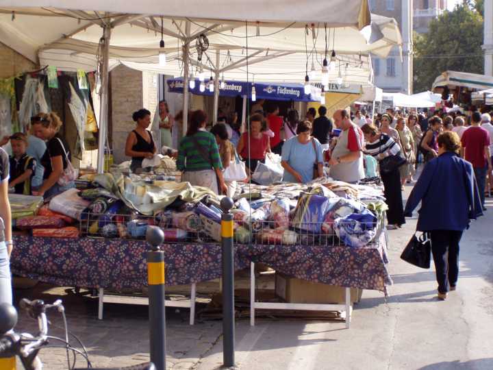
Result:
[[[166,80],[166,83],[168,84],[168,91],[170,93],[183,94],[184,86],[182,77],[168,79]],[[208,83],[208,81],[205,82],[205,91],[201,93],[201,91],[199,90],[200,81],[199,79],[195,79],[195,88],[189,88],[189,91],[190,93],[195,95],[207,95],[212,97],[214,96],[214,93],[211,93],[207,88]],[[321,90],[320,88],[316,88],[315,86],[312,86],[312,93],[309,95],[305,94],[303,84],[255,82],[253,86],[255,86],[255,95],[257,96],[257,99],[320,101]],[[244,97],[246,95],[248,97],[251,97],[251,88],[251,82],[225,81],[224,88],[219,88],[219,96],[236,97],[240,95]]]

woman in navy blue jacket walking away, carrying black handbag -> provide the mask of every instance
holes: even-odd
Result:
[[[483,214],[472,165],[457,156],[455,132],[438,136],[438,157],[423,169],[407,204],[405,216],[421,201],[416,230],[429,232],[438,282],[438,299],[446,299],[448,284],[455,291],[459,276],[459,242],[470,220]],[[447,257],[448,251],[448,257]]]

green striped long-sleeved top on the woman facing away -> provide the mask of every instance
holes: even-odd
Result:
[[[202,150],[199,150],[196,143],[202,147]],[[207,158],[204,158],[205,153]],[[193,136],[185,136],[181,139],[177,159],[179,171],[204,171],[212,167],[223,169],[214,135],[200,130]]]

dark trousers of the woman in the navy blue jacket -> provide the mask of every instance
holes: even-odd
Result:
[[[430,234],[438,291],[447,293],[448,284],[457,285],[459,278],[459,242],[462,231],[432,230]]]

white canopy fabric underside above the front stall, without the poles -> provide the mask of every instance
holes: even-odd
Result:
[[[372,14],[370,23],[361,30],[342,16],[338,17],[336,23],[331,22],[331,14],[340,14],[339,10],[333,11],[336,9],[333,1],[324,2],[330,4],[332,9],[331,12],[325,12],[327,19],[324,22],[309,23],[251,21],[247,26],[244,22],[234,20],[218,21],[217,17],[192,18],[190,15],[177,18],[164,12],[163,40],[168,63],[162,67],[157,64],[161,16],[151,15],[159,14],[156,10],[158,8],[153,7],[148,14],[118,12],[105,15],[53,8],[1,8],[5,3],[9,2],[0,0],[0,42],[34,62],[39,57],[42,66],[56,66],[65,71],[96,69],[97,56],[101,50],[101,25],[106,23],[112,26],[110,66],[128,64],[136,69],[175,76],[183,74],[182,46],[185,42],[190,44],[193,68],[197,66],[199,53],[195,44],[197,36],[201,34],[207,36],[209,43],[202,59],[204,69],[220,69],[227,79],[244,79],[247,74],[248,54],[248,73],[255,75],[255,79],[259,81],[303,82],[306,50],[309,66],[314,64],[316,71],[320,71],[325,57],[326,26],[328,57],[332,50],[336,51],[338,64],[342,72],[346,73],[349,83],[366,84],[372,79],[369,53],[385,57],[392,47],[401,45],[399,27],[393,18]],[[346,1],[344,9],[350,9],[353,3],[361,5],[362,1]],[[312,6],[310,2],[305,8]],[[88,5],[85,4],[84,7]],[[189,7],[183,8],[182,14]],[[264,5],[264,9],[268,8],[269,5]],[[139,7],[139,10],[144,12],[146,9]],[[14,21],[13,11],[16,14]],[[190,14],[194,14],[193,10],[190,10]],[[340,21],[342,19],[344,22]],[[187,27],[190,27],[188,33]],[[306,34],[307,30],[309,35]],[[218,63],[216,52],[219,53]],[[336,66],[336,69],[330,71],[331,79],[336,79],[338,68]]]

